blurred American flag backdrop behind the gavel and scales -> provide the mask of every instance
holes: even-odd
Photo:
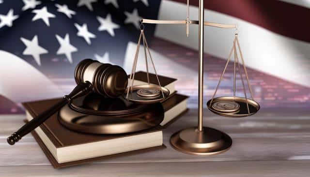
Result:
[[[198,19],[198,0],[189,17]],[[310,107],[310,0],[205,0],[205,20],[237,24],[254,99],[263,109]],[[139,20],[186,19],[186,0],[0,0],[0,114],[22,102],[62,97],[75,87],[85,58],[129,74]],[[235,29],[205,27],[204,102],[212,96],[233,46]],[[198,105],[198,26],[145,24],[158,74]],[[138,70],[145,71],[142,47]],[[237,95],[243,96],[240,77]],[[248,92],[248,90],[247,90]],[[217,96],[233,94],[233,64]]]

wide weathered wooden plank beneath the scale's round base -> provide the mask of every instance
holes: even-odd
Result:
[[[47,158],[31,135],[24,137],[15,146],[6,143],[6,137],[21,126],[24,116],[1,116],[0,166],[49,165]],[[213,162],[310,159],[310,124],[308,112],[260,112],[249,118],[222,118],[206,114],[208,126],[228,133],[233,138],[233,147],[216,156],[192,156],[171,148],[172,133],[197,124],[197,110],[188,114],[164,130],[167,149],[126,156],[96,163],[131,162]]]

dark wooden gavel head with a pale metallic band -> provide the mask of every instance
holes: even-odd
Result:
[[[95,92],[110,98],[124,94],[128,84],[128,77],[123,68],[93,59],[79,62],[74,77],[77,84],[89,81]]]

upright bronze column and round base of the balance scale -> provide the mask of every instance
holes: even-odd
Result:
[[[232,139],[226,134],[210,127],[203,127],[203,0],[199,0],[199,88],[198,88],[198,127],[190,127],[172,134],[173,148],[187,154],[211,155],[228,150]]]

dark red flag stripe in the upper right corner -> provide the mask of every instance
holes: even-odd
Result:
[[[186,3],[186,0],[172,1]],[[199,5],[199,0],[189,2],[191,5]],[[290,38],[310,42],[310,9],[306,7],[278,0],[204,0],[204,8],[243,19]]]

